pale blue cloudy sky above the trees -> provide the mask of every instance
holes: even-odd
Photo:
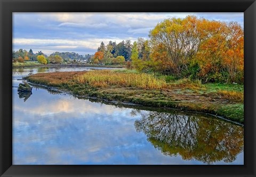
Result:
[[[167,18],[187,15],[210,20],[237,21],[243,13],[13,13],[13,50],[32,49],[94,54],[101,41],[119,43],[148,38],[149,30]]]

